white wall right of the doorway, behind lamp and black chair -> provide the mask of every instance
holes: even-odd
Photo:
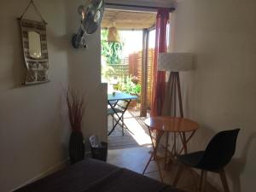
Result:
[[[218,131],[241,128],[227,166],[230,189],[254,190],[256,177],[256,1],[179,0],[174,51],[195,54],[195,71],[182,73],[185,117],[200,131],[190,151],[204,149]],[[212,183],[219,178],[210,175]]]

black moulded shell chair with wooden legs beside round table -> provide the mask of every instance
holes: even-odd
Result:
[[[208,143],[205,151],[198,151],[191,154],[177,156],[181,162],[177,170],[177,176],[173,185],[176,186],[184,166],[201,169],[200,191],[204,191],[207,172],[217,172],[221,178],[225,192],[230,192],[227,178],[224,172],[226,166],[236,150],[236,138],[240,129],[218,132]]]

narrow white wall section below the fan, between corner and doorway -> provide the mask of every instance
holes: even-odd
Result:
[[[84,0],[67,1],[67,43],[68,43],[68,77],[74,88],[84,93],[86,109],[83,131],[85,137],[98,135],[107,141],[107,84],[101,84],[101,35],[98,30],[87,36],[87,49],[73,49],[70,39],[79,29],[79,5]],[[88,147],[88,143],[86,145]],[[89,149],[89,148],[87,148]]]

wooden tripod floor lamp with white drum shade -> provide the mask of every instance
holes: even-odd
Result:
[[[190,53],[160,53],[158,71],[171,72],[166,89],[165,106],[163,113],[176,116],[177,99],[180,116],[183,118],[183,102],[181,96],[179,72],[193,69],[192,54]]]

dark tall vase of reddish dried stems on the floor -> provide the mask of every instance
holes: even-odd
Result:
[[[71,125],[71,135],[69,139],[69,158],[71,164],[84,160],[84,136],[81,130],[84,100],[78,92],[68,88],[65,91],[65,98],[68,108],[68,117]]]

